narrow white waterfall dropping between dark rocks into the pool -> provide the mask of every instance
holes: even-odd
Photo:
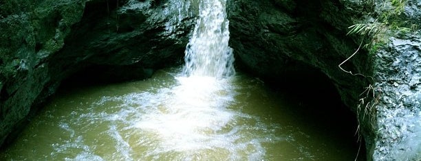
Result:
[[[226,0],[199,2],[199,18],[185,51],[184,75],[228,77],[235,74]]]

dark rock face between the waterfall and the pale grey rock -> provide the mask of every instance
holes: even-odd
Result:
[[[244,69],[280,88],[290,86],[283,80],[288,75],[319,70],[332,80],[343,102],[359,112],[360,93],[369,85],[369,79],[338,67],[358,49],[359,42],[346,36],[354,12],[338,1],[246,0],[230,1],[227,11],[230,47],[237,61],[244,63]],[[342,67],[352,73],[371,75],[371,65],[367,55],[358,54]],[[361,131],[366,146],[371,147],[371,126],[364,125]]]

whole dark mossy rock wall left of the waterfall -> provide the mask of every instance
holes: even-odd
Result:
[[[144,79],[181,63],[196,15],[192,1],[1,2],[0,145],[73,73]]]

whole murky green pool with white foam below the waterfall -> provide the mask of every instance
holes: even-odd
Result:
[[[334,124],[322,125],[330,121],[316,123],[303,116],[299,110],[305,109],[303,103],[268,90],[259,79],[241,74],[230,79],[187,78],[177,73],[179,69],[166,69],[144,81],[62,88],[1,151],[0,160],[354,160],[356,156],[353,134]]]

